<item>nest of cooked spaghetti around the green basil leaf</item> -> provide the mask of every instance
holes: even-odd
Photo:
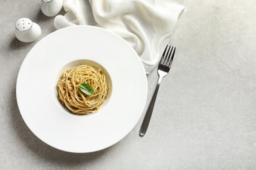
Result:
[[[90,84],[94,92],[87,95],[79,90],[79,84]],[[91,65],[79,65],[64,70],[56,85],[58,99],[73,114],[98,112],[110,93],[110,86],[102,69]]]

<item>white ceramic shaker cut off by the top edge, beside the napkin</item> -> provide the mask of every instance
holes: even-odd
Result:
[[[41,10],[46,16],[55,16],[62,6],[63,0],[41,0]]]

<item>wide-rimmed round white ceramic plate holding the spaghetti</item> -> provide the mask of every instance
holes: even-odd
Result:
[[[57,99],[63,69],[82,63],[104,69],[110,96],[96,114],[76,116]],[[74,26],[54,31],[24,59],[16,84],[22,118],[43,142],[67,152],[94,152],[117,143],[137,124],[147,95],[146,73],[127,42],[106,29]]]

